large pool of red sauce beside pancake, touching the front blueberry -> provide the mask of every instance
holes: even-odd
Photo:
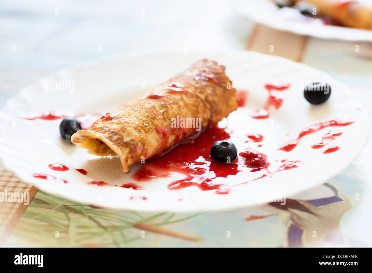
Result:
[[[211,159],[211,146],[217,140],[227,140],[230,134],[218,127],[208,128],[195,139],[179,144],[160,157],[146,160],[134,174],[137,181],[151,181],[169,177],[177,172],[186,176],[168,185],[171,190],[197,186],[202,191],[218,189],[221,184],[212,183],[217,177],[226,178],[238,173],[238,164],[219,163]]]

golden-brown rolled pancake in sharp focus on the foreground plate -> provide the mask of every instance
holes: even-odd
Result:
[[[225,67],[204,59],[77,131],[71,141],[92,155],[119,155],[121,169],[128,173],[134,163],[227,117],[237,108],[235,92]],[[177,116],[195,118],[195,126],[177,124]]]

